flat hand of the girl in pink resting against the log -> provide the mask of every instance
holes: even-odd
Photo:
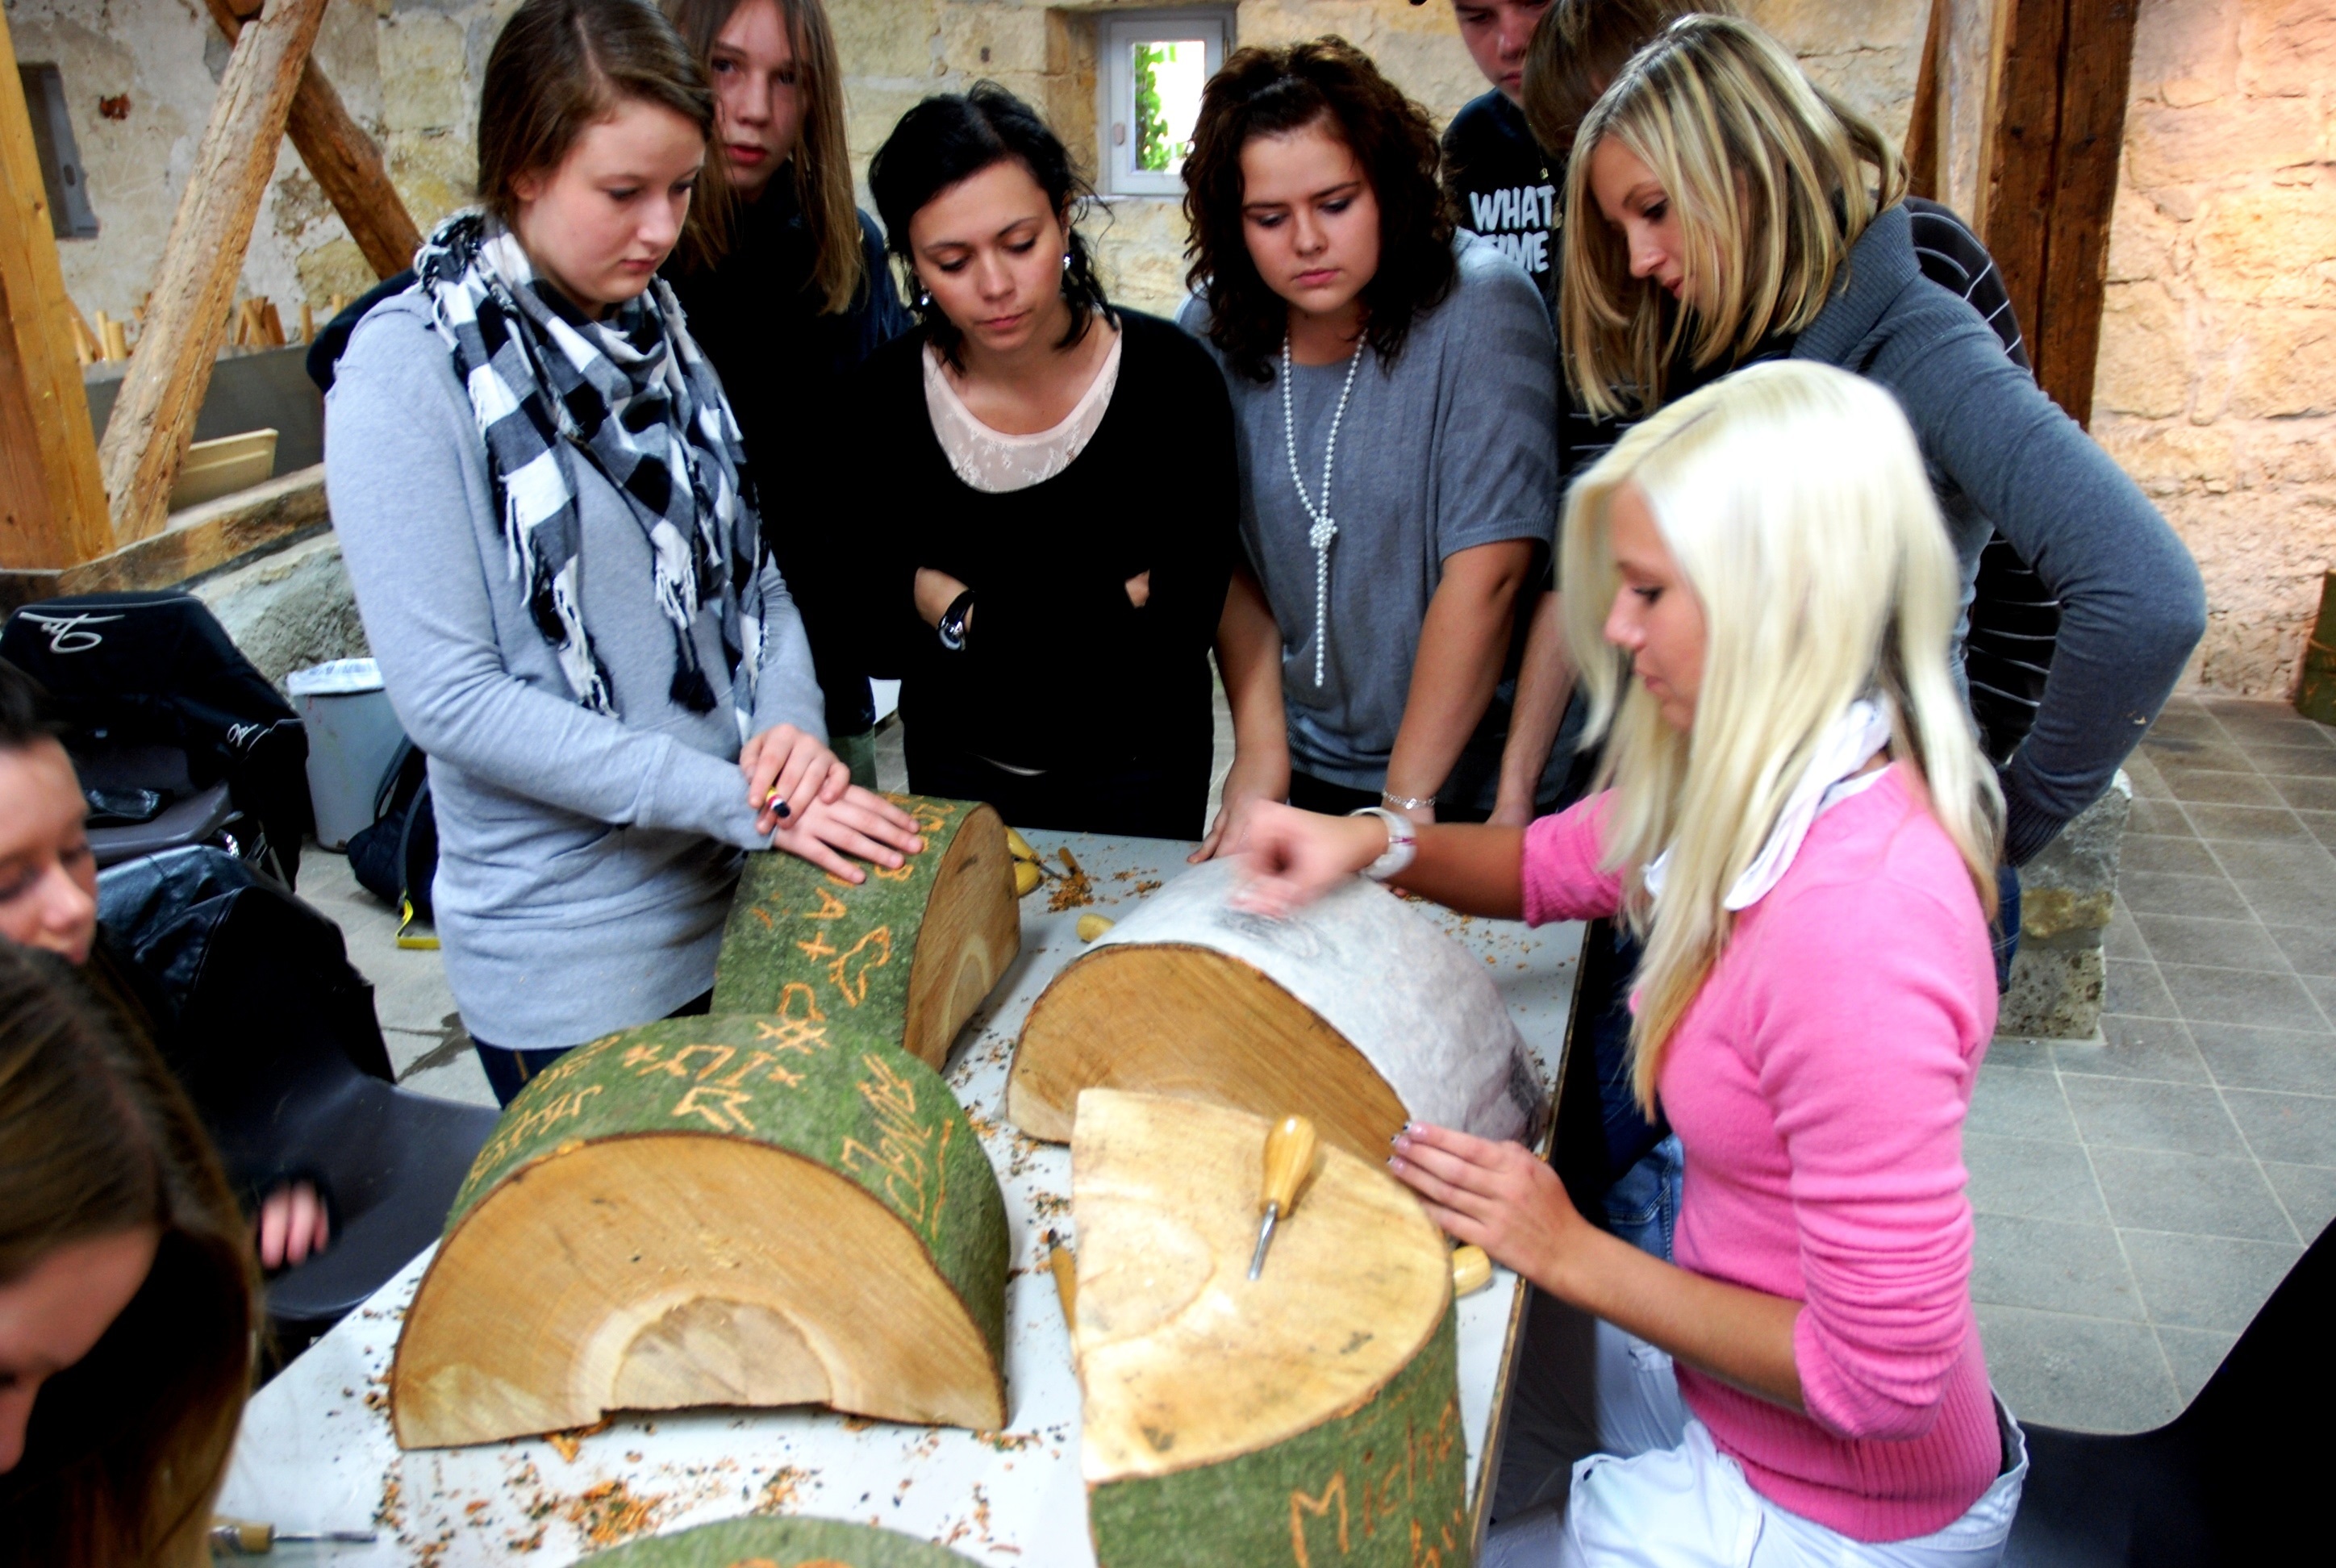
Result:
[[[1553,1290],[1591,1229],[1558,1173],[1521,1143],[1409,1122],[1395,1136],[1388,1168],[1420,1194],[1427,1217],[1448,1236],[1481,1246],[1544,1290]]]

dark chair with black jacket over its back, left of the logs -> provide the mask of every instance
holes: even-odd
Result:
[[[297,1351],[437,1241],[498,1112],[397,1089],[341,930],[231,855],[107,872],[107,937],[147,981],[164,1056],[245,1189],[320,1182],[332,1248],[269,1281]]]

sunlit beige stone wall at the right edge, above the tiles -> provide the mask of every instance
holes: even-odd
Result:
[[[2196,680],[2287,696],[2336,566],[2336,0],[2142,0],[2093,432],[2208,584]]]

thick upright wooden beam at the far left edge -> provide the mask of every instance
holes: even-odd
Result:
[[[0,568],[65,568],[112,544],[72,322],[0,14]]]

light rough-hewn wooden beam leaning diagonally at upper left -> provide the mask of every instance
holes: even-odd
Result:
[[[117,544],[159,533],[168,516],[171,481],[227,339],[227,308],[252,243],[252,220],[276,173],[292,93],[322,19],[325,0],[273,0],[264,16],[245,23],[227,58],[220,100],[154,271],[145,332],[98,446]]]

